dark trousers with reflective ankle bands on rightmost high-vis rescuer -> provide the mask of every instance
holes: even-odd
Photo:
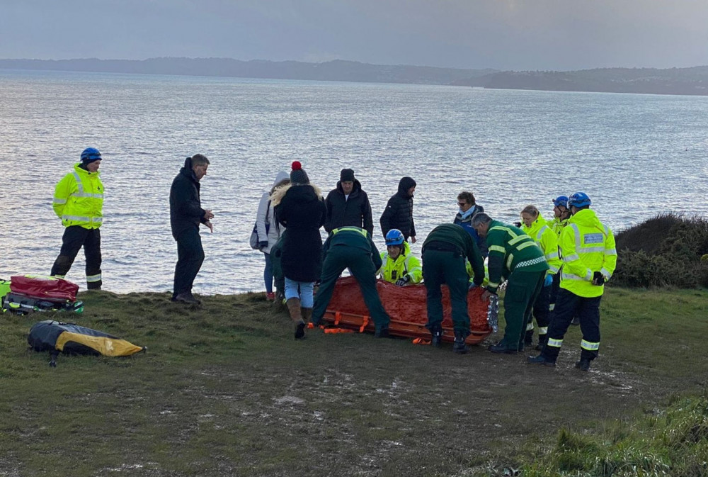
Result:
[[[548,343],[542,355],[547,361],[556,361],[563,344],[563,337],[573,320],[580,318],[580,329],[583,332],[581,342],[581,359],[595,359],[600,349],[600,299],[602,296],[585,298],[561,288],[558,291],[558,301],[553,313],[551,325],[548,327]]]

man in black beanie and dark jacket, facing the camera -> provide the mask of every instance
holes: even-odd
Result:
[[[374,233],[374,221],[371,218],[369,196],[361,189],[361,184],[354,178],[352,169],[342,169],[336,189],[326,198],[327,221],[324,230],[353,225],[367,232]]]

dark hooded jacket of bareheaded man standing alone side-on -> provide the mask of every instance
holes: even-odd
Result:
[[[199,188],[199,181],[192,170],[192,158],[188,157],[170,189],[170,225],[175,240],[185,230],[198,229],[200,223],[206,222]]]

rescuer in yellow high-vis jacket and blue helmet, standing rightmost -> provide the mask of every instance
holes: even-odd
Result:
[[[563,337],[574,315],[580,318],[583,332],[580,360],[576,368],[590,369],[590,361],[598,357],[600,349],[600,299],[605,282],[617,265],[615,236],[590,210],[590,197],[576,192],[568,199],[571,218],[561,232],[559,247],[563,268],[561,288],[548,329],[548,342],[541,354],[529,357],[533,364],[555,366]]]

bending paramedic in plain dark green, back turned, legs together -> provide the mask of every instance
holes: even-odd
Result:
[[[444,223],[435,227],[423,242],[423,284],[428,291],[428,324],[433,337],[430,344],[442,344],[442,292],[440,286],[450,289],[452,323],[455,329],[455,344],[452,351],[467,353],[464,339],[469,335],[467,313],[468,276],[465,262],[469,260],[474,271],[473,286],[484,281],[484,259],[476,243],[460,225]]]

